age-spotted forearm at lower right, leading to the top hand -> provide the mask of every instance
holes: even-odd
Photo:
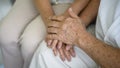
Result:
[[[119,48],[107,45],[89,33],[79,37],[78,45],[103,68],[120,68]]]

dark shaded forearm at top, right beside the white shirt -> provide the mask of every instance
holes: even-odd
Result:
[[[88,26],[94,20],[98,13],[100,0],[91,0],[87,7],[80,13],[81,21]]]

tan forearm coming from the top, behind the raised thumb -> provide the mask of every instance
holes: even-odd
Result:
[[[89,3],[90,0],[75,0],[69,8],[72,8],[74,13],[78,15]],[[69,16],[68,9],[64,13],[65,16]]]

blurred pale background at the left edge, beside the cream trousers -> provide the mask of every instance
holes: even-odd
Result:
[[[0,21],[7,15],[12,5],[14,4],[14,1],[15,0],[0,0]],[[0,68],[4,68],[1,49],[0,49]]]

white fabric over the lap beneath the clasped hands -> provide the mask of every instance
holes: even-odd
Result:
[[[74,48],[76,57],[71,62],[62,61],[59,55],[54,56],[53,51],[43,41],[37,49],[30,68],[98,68],[95,62],[78,47]]]

